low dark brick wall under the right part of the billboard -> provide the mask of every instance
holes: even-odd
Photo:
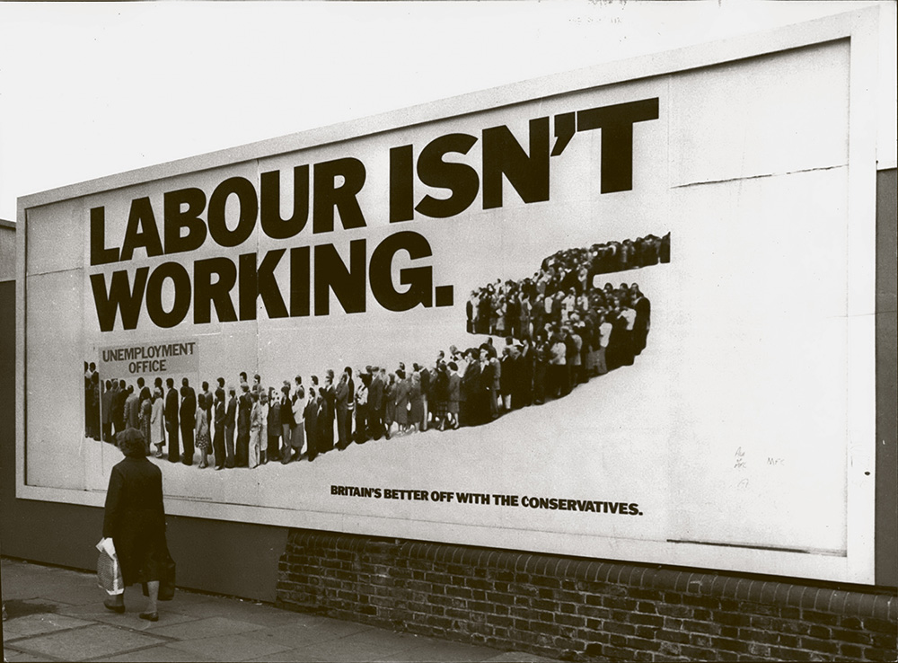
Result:
[[[568,660],[896,660],[898,597],[291,530],[277,602]]]

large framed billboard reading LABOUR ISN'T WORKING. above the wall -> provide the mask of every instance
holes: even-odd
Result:
[[[17,494],[872,582],[863,25],[22,199]]]

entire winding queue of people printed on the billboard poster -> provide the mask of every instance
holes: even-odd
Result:
[[[670,234],[557,252],[533,278],[497,280],[471,292],[468,332],[480,346],[451,346],[427,363],[346,367],[263,387],[241,373],[197,393],[189,379],[146,385],[103,382],[85,363],[85,431],[114,441],[138,429],[147,455],[216,470],[314,461],[334,449],[428,429],[478,426],[508,411],[571,393],[577,385],[630,366],[646,348],[651,303],[637,283],[594,276],[670,260]],[[502,347],[497,348],[494,337]]]

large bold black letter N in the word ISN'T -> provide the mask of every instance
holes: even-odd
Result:
[[[505,125],[483,129],[483,208],[502,207],[502,175],[525,203],[549,199],[549,118],[530,120],[530,155]]]

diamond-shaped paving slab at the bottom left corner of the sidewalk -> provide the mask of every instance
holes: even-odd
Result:
[[[18,640],[15,647],[29,654],[78,661],[110,657],[165,642],[162,638],[119,629],[110,624],[92,624]]]

